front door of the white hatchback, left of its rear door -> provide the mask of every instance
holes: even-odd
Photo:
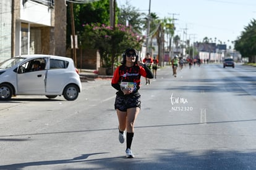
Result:
[[[19,66],[17,71],[17,94],[45,94],[46,70],[32,70],[32,63],[36,59],[30,60]]]

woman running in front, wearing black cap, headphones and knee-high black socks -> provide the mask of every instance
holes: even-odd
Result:
[[[135,49],[127,49],[122,57],[122,65],[114,71],[111,85],[117,90],[114,108],[119,121],[119,142],[122,144],[126,139],[126,157],[134,158],[130,147],[135,119],[140,111],[140,76],[153,78],[153,74],[146,65],[138,62],[139,56]]]

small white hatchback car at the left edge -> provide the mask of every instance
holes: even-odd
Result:
[[[20,55],[0,63],[0,100],[10,100],[12,95],[46,95],[49,99],[63,95],[75,100],[81,87],[74,61],[67,57]]]

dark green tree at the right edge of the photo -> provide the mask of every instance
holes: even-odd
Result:
[[[234,48],[239,51],[242,57],[252,57],[256,55],[256,20],[253,19],[248,26],[245,26],[240,38],[235,41]]]

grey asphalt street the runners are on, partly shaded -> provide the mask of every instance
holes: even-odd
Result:
[[[133,159],[119,144],[111,79],[82,83],[75,101],[0,103],[0,169],[256,169],[256,68],[202,64],[145,85]]]

